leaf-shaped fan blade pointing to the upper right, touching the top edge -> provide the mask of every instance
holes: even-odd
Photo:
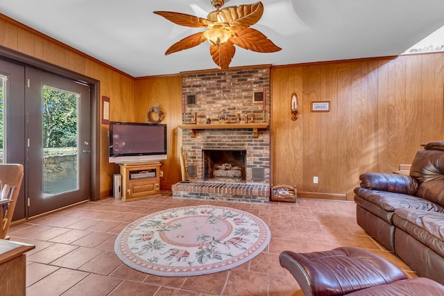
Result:
[[[230,6],[221,9],[219,15],[224,22],[230,24],[232,30],[241,30],[256,24],[264,13],[264,5],[262,2],[253,3],[250,5]]]

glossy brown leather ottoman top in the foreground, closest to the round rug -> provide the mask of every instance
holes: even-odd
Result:
[[[345,295],[407,279],[392,263],[357,247],[311,253],[284,251],[279,261],[305,296]]]

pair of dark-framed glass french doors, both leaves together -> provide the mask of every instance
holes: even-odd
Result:
[[[89,199],[89,86],[0,60],[0,163],[24,165],[14,220]]]

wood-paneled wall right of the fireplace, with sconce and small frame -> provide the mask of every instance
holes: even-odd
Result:
[[[395,171],[443,139],[442,53],[273,67],[271,79],[273,182],[301,197],[352,199],[361,173]]]

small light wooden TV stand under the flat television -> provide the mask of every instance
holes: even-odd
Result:
[[[122,176],[122,200],[140,200],[160,196],[160,162],[119,164]]]

